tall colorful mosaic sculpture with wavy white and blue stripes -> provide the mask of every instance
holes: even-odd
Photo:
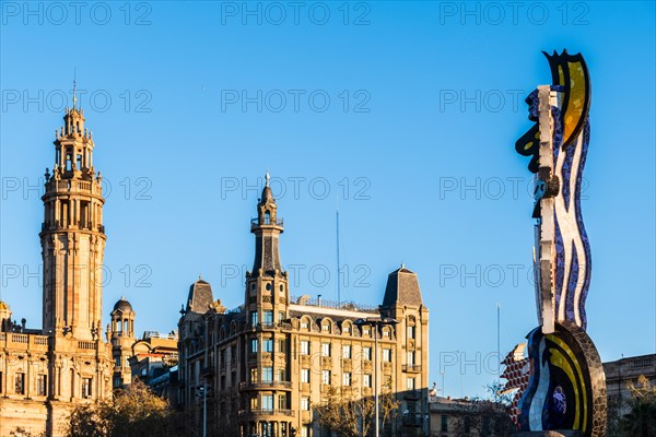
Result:
[[[589,75],[581,54],[544,55],[553,85],[538,86],[527,97],[536,125],[515,144],[518,153],[531,156],[528,168],[536,174],[534,263],[540,323],[527,335],[528,383],[513,387],[519,398],[517,422],[527,432],[574,429],[584,437],[601,437],[606,380],[585,332],[591,264],[581,214],[590,132]],[[515,361],[504,362],[506,371],[519,365]]]

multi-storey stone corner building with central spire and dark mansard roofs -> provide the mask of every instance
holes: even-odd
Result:
[[[250,231],[255,262],[244,304],[226,310],[210,284],[198,280],[180,311],[179,394],[196,412],[197,426],[207,401],[210,436],[329,435],[313,406],[331,388],[353,399],[373,397],[377,380],[380,393],[395,393],[400,402],[398,418],[382,435],[425,435],[429,311],[417,274],[405,267],[390,273],[379,308],[294,299],[280,262],[283,221],[268,184]],[[356,323],[380,317],[398,323]]]

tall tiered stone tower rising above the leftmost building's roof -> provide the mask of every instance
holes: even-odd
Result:
[[[39,234],[44,269],[44,333],[99,336],[105,227],[101,174],[93,167],[93,135],[84,113],[67,108],[55,131],[55,165],[46,169],[44,223]]]

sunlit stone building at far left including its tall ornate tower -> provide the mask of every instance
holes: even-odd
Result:
[[[59,436],[75,404],[112,393],[112,347],[101,332],[101,175],[74,102],[63,121],[42,198],[43,329],[13,322],[0,302],[0,437],[19,426]]]

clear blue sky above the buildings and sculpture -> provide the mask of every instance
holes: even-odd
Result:
[[[293,293],[337,297],[339,197],[342,297],[380,303],[405,262],[431,311],[431,381],[444,370],[446,394],[483,393],[495,304],[504,353],[537,323],[514,143],[524,96],[550,82],[540,51],[567,48],[593,81],[588,331],[605,361],[656,352],[654,3],[514,4],[3,1],[2,298],[40,327],[28,186],[52,165],[77,68],[108,182],[105,322],[125,295],[139,331],[175,329],[199,273],[239,305],[259,194],[243,189],[268,169]]]

